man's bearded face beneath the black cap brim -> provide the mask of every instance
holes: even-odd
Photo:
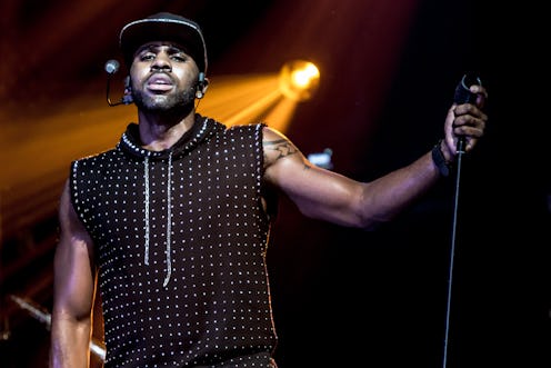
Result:
[[[132,98],[147,111],[170,111],[194,103],[199,69],[172,43],[150,42],[134,54],[130,68]]]

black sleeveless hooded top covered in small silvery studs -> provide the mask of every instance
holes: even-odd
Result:
[[[72,162],[106,367],[270,367],[263,125],[196,118],[171,149],[142,149],[131,123],[114,149]]]

